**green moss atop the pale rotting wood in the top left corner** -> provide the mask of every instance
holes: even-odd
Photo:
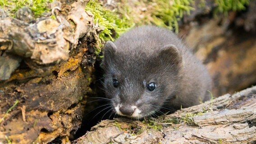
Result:
[[[15,12],[24,7],[29,7],[35,17],[39,17],[45,11],[49,11],[50,9],[47,6],[53,0],[0,0],[0,7],[3,9],[8,9],[9,14],[14,16]]]

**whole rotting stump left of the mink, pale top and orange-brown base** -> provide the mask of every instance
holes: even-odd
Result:
[[[53,2],[54,18],[48,14],[33,21],[1,14],[0,144],[48,143],[56,138],[65,143],[80,127],[78,103],[90,84],[82,70],[90,77],[92,69],[80,64],[87,61],[88,49],[94,49],[86,40],[96,36],[93,15],[84,11],[87,2]],[[17,13],[24,9],[28,8]]]

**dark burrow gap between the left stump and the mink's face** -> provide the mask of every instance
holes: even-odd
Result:
[[[103,90],[104,71],[101,68],[101,58],[97,58],[94,64],[93,81],[89,85],[91,92],[87,93],[87,98],[84,98],[81,103],[82,108],[82,124],[74,135],[70,136],[70,140],[75,140],[85,135],[91,127],[95,126],[102,120],[113,119],[114,112],[110,110],[110,101],[105,98]],[[112,114],[111,114],[112,113]]]

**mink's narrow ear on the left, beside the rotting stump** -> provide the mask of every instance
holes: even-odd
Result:
[[[114,45],[114,43],[110,40],[108,40],[105,43],[105,47],[104,47],[104,58],[103,58],[103,63],[104,65],[108,65],[111,63],[111,59],[114,58],[114,53],[116,52],[116,46]]]

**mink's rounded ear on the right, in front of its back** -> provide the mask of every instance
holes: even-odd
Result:
[[[160,49],[159,57],[162,63],[171,63],[176,66],[182,63],[182,56],[175,45],[165,45]]]

